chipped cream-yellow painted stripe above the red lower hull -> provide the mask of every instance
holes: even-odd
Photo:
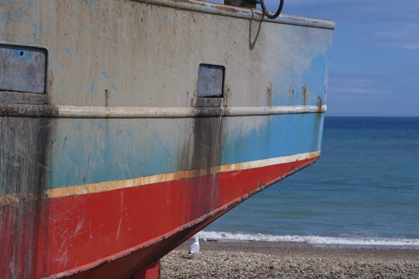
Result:
[[[280,165],[292,163],[299,160],[309,160],[320,157],[321,151],[300,153],[291,156],[282,156],[263,160],[254,160],[244,163],[234,163],[229,165],[220,165],[209,169],[193,169],[181,172],[170,172],[167,174],[156,174],[151,176],[140,176],[134,179],[123,179],[115,181],[104,181],[99,183],[90,183],[78,186],[63,186],[61,188],[52,188],[45,191],[45,198],[67,197],[71,195],[87,195],[93,193],[103,193],[111,190],[145,186],[153,183],[163,183],[168,181],[177,181],[181,179],[191,179],[198,176],[207,176],[221,172],[234,172],[245,169],[255,169],[258,167],[268,167],[271,165]],[[25,200],[37,199],[35,196],[25,197]],[[20,202],[20,197],[16,194],[0,196],[0,206]]]

